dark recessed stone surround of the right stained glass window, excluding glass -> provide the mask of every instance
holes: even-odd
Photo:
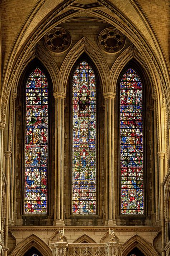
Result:
[[[142,83],[142,116],[143,116],[143,207],[144,207],[144,214],[121,214],[121,158],[120,158],[120,83],[121,79],[128,71],[128,69],[133,69],[137,75],[140,77],[141,83]],[[147,73],[145,72],[145,69],[141,66],[140,63],[137,62],[136,59],[132,58],[121,70],[118,80],[117,80],[117,120],[118,120],[118,177],[119,177],[119,183],[118,183],[118,216],[121,219],[141,219],[145,220],[146,216],[148,215],[148,188],[146,185],[147,181],[147,167],[146,167],[146,161],[147,161],[147,141],[146,141],[146,104],[148,98],[151,96],[150,90],[151,90],[150,80],[148,79]],[[146,90],[147,88],[147,90]],[[149,93],[149,95],[146,95],[146,91]],[[150,160],[149,160],[150,161]]]

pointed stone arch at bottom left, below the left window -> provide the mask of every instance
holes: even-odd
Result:
[[[32,247],[35,247],[43,256],[51,256],[51,248],[37,235],[32,234],[17,244],[11,256],[24,256],[24,254]]]

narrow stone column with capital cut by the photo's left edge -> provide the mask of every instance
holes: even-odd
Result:
[[[3,138],[6,123],[0,122],[0,231],[1,231],[1,214],[2,214],[2,185],[3,185]]]

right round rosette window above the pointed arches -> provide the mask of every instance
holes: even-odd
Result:
[[[124,48],[124,35],[114,28],[106,28],[98,36],[99,47],[107,53],[117,53]]]

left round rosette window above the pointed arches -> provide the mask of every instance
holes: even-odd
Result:
[[[44,45],[50,51],[63,53],[71,45],[71,35],[64,28],[53,28],[44,36]]]

